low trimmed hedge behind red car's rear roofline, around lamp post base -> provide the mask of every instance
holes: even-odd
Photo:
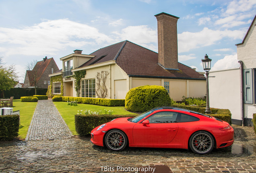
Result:
[[[179,107],[179,108],[184,108],[188,109],[191,111],[195,111],[198,113],[205,114],[205,107],[199,107],[199,106],[188,106],[188,105],[171,105],[171,107]],[[231,112],[229,109],[216,109],[216,108],[210,108],[211,116],[215,117],[217,119],[221,119],[222,121],[226,121],[231,125]]]

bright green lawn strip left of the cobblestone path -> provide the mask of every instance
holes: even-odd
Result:
[[[20,99],[13,100],[13,111],[20,111],[19,137],[22,139],[26,138],[36,106],[37,102],[21,102]]]

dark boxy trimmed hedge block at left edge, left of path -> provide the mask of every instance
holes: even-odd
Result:
[[[11,141],[19,134],[19,115],[0,116],[0,141]]]

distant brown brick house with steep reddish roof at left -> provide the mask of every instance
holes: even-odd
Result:
[[[38,61],[33,70],[27,70],[24,80],[24,88],[34,88],[35,83],[37,88],[47,89],[50,85],[49,74],[53,74],[58,71],[59,68],[54,61],[54,58],[47,59],[47,56],[43,60]],[[35,81],[35,82],[34,82]]]

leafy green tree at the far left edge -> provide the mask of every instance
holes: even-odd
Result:
[[[2,91],[4,97],[4,91],[8,91],[16,84],[18,80],[17,73],[15,72],[15,66],[5,66],[0,57],[0,91]]]

